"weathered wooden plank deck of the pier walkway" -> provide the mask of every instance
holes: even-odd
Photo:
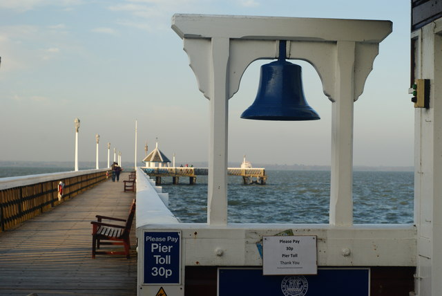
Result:
[[[91,259],[90,221],[95,215],[128,216],[135,194],[124,192],[123,179],[128,175],[0,233],[0,295],[136,295],[135,221],[131,259],[124,255]]]

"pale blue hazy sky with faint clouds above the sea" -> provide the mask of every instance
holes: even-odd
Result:
[[[209,101],[198,91],[175,13],[380,19],[393,32],[379,46],[354,104],[354,165],[412,166],[410,3],[403,0],[1,0],[0,160],[79,161],[111,151],[137,165],[158,142],[176,163],[209,155]],[[320,78],[302,66],[304,92],[321,120],[242,120],[260,66],[253,62],[229,100],[229,163],[329,165],[332,103]],[[111,152],[112,153],[112,152]],[[112,156],[111,156],[112,158]]]

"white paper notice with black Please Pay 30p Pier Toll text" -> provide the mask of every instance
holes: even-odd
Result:
[[[316,235],[262,238],[264,275],[316,275]]]

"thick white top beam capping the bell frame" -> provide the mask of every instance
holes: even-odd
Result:
[[[357,41],[379,43],[392,32],[391,21],[184,15],[172,17],[172,29],[182,39],[284,39],[300,41]]]

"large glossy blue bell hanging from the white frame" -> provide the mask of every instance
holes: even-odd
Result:
[[[285,60],[285,41],[280,41],[276,62],[261,66],[255,102],[241,114],[255,120],[318,120],[302,90],[301,67]]]

